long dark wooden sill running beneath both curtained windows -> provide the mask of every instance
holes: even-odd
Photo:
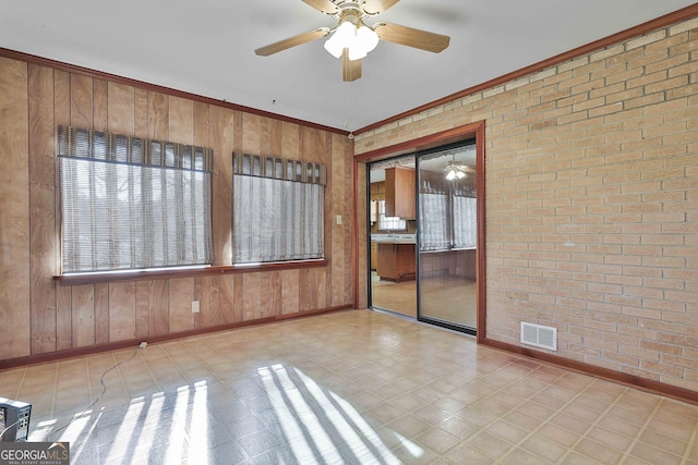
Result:
[[[261,271],[294,270],[294,269],[304,269],[304,268],[321,268],[321,267],[325,267],[327,264],[328,264],[327,259],[322,259],[322,260],[278,261],[273,264],[258,264],[258,265],[213,266],[213,267],[206,267],[206,268],[191,268],[191,269],[178,269],[178,270],[57,274],[53,277],[53,281],[58,281],[61,285],[94,284],[94,283],[100,283],[100,282],[172,279],[172,278],[221,276],[221,274],[236,274],[236,273],[253,273],[253,272],[261,272]]]

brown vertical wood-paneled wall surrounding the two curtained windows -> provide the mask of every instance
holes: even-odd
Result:
[[[328,167],[321,268],[67,285],[60,270],[56,127],[213,147],[215,265],[231,260],[232,151]],[[0,359],[215,328],[353,303],[352,145],[228,106],[0,58]],[[336,224],[336,216],[342,216]],[[201,302],[192,314],[191,302]]]

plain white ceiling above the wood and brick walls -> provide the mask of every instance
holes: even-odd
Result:
[[[0,0],[0,47],[356,131],[693,3],[402,0],[378,20],[448,35],[450,46],[434,54],[381,42],[353,83],[323,39],[254,54],[335,25],[301,0]]]

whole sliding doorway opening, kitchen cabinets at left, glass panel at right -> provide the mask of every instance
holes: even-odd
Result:
[[[368,163],[371,308],[477,333],[478,154],[468,139]]]

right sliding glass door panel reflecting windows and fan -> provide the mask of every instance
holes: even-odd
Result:
[[[418,317],[474,333],[478,208],[474,143],[418,157]]]

